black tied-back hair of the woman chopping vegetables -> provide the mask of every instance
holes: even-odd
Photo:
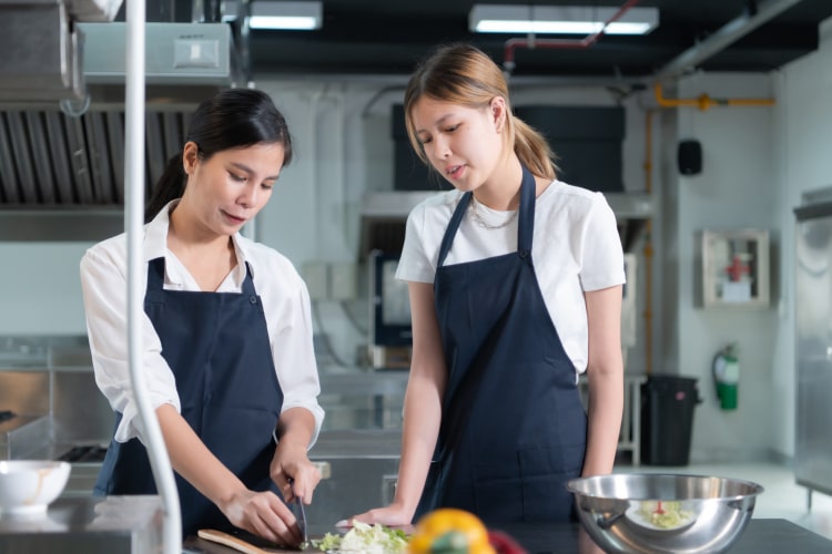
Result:
[[[217,152],[243,148],[260,143],[283,145],[283,165],[292,161],[292,137],[283,114],[272,99],[254,89],[226,89],[203,101],[193,113],[185,143],[194,142],[200,160]],[[184,146],[184,145],[183,145]],[[162,177],[144,209],[150,222],[172,199],[182,197],[187,175],[182,164],[182,152],[168,161]]]

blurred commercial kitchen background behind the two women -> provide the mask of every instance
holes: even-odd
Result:
[[[254,0],[248,16],[278,3]],[[406,288],[390,276],[408,211],[446,187],[409,150],[404,84],[430,44],[480,39],[468,31],[473,2],[296,3],[317,4],[321,30],[252,25],[246,37],[235,27],[246,17],[235,2],[148,3],[144,166],[150,186],[195,103],[219,86],[250,82],[286,114],[295,161],[244,233],[286,255],[310,289],[326,419],[311,451],[325,479],[307,514],[328,530],[388,502],[396,483],[409,311]],[[618,471],[765,462],[793,474],[810,512],[813,500],[816,507],[832,495],[832,7],[545,3],[659,10],[648,45],[602,33],[584,42],[534,34],[480,42],[496,61],[510,58],[516,112],[546,131],[564,181],[603,192],[617,215],[628,278]],[[0,4],[0,44],[18,54],[0,62],[0,460],[70,461],[59,507],[93,502],[113,425],[93,380],[79,281],[84,252],[124,228],[124,7],[110,11]],[[450,24],[456,12],[464,20]],[[21,23],[32,14],[38,24]],[[115,21],[101,21],[108,18]],[[416,27],[418,41],[394,29],[399,18]],[[366,42],[339,44],[346,31],[324,32],[359,21]],[[59,24],[67,43],[33,39]],[[71,29],[83,32],[63,34]],[[376,43],[366,38],[371,29]],[[209,33],[221,62],[176,72],[170,61],[183,54],[174,44],[194,32]],[[671,41],[676,50],[659,41],[662,33],[681,37]],[[21,48],[32,58],[20,63],[32,65],[32,49],[49,60],[48,49],[64,52],[81,35],[85,84],[50,78],[49,63],[33,89],[12,79],[26,73],[14,63],[24,60]],[[650,54],[636,59],[640,49]],[[72,100],[62,102],[64,93]],[[729,348],[739,377],[726,392],[716,376]],[[687,387],[687,400],[651,404],[650,386],[662,377]],[[152,515],[158,506],[145,509]],[[51,523],[59,530],[42,533],[60,536],[63,522]],[[17,552],[3,546],[16,533],[0,516],[0,553]],[[820,542],[784,520],[752,520],[745,533],[735,552],[782,552],[783,536],[832,547],[832,534]],[[577,552],[571,535],[562,551],[535,542],[541,536],[529,550]]]

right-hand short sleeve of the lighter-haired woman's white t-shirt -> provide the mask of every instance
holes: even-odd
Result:
[[[616,214],[601,193],[596,193],[580,240],[584,290],[600,290],[625,283],[623,250]]]

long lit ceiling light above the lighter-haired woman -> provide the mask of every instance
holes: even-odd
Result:
[[[496,6],[475,4],[468,13],[468,29],[481,33],[647,34],[659,24],[658,8],[630,8],[616,21],[603,23],[619,8],[591,6]]]

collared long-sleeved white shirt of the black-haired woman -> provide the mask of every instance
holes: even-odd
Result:
[[[173,201],[174,203],[177,201]],[[168,249],[169,211],[173,203],[144,226],[140,283],[148,283],[148,263],[164,256],[166,290],[199,291],[184,265]],[[317,403],[321,392],[312,343],[310,296],[292,263],[276,250],[234,235],[237,266],[217,293],[241,293],[245,264],[263,301],[268,340],[277,381],[283,390],[283,410],[303,407],[315,417],[314,444],[324,420]],[[119,235],[91,247],[81,259],[81,288],[95,382],[113,410],[123,413],[115,440],[142,437],[135,396],[130,381],[126,345],[126,238]],[[144,295],[142,295],[144,297]],[[148,393],[155,410],[169,403],[181,412],[176,382],[162,357],[162,343],[150,318],[142,311],[143,368]],[[270,430],[271,431],[271,430]]]

